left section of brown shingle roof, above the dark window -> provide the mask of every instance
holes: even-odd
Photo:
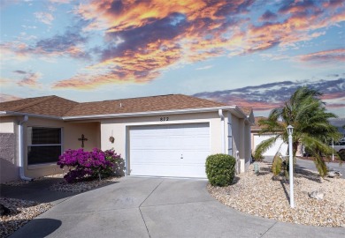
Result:
[[[66,100],[58,96],[45,96],[12,100],[0,103],[0,111],[11,111],[34,115],[63,116],[78,102]]]

